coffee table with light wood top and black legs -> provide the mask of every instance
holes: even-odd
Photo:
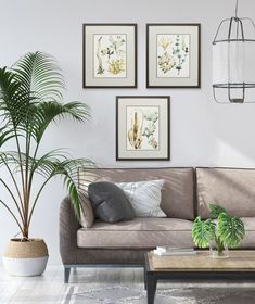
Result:
[[[158,280],[176,279],[255,280],[255,250],[230,251],[229,257],[221,259],[209,257],[208,251],[180,256],[145,253],[144,284],[148,304],[154,303]]]

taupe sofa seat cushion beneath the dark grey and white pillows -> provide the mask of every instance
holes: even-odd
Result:
[[[193,246],[192,221],[178,218],[135,218],[109,224],[95,221],[77,231],[79,248],[152,249],[157,245]]]

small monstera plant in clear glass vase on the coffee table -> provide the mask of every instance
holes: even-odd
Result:
[[[228,249],[238,248],[244,238],[243,221],[216,204],[209,204],[209,213],[212,218],[195,218],[191,231],[193,242],[197,248],[209,248],[212,257],[228,257]]]

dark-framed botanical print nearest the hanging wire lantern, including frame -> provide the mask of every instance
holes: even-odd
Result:
[[[146,87],[201,87],[200,24],[146,25]]]

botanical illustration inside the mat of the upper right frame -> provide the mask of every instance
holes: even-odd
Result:
[[[157,35],[157,77],[190,76],[190,35]]]

